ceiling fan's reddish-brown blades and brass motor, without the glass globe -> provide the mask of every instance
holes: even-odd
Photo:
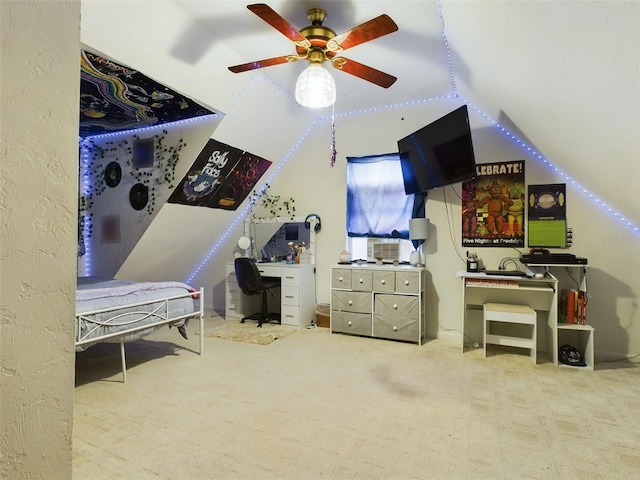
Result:
[[[301,30],[295,28],[264,3],[247,5],[247,8],[291,40],[295,44],[296,54],[234,65],[229,67],[229,70],[233,73],[241,73],[283,63],[292,63],[298,60],[308,60],[311,64],[329,62],[338,70],[342,70],[343,72],[362,78],[383,88],[389,88],[397,80],[397,78],[392,75],[341,56],[344,50],[397,31],[398,26],[391,17],[386,14],[369,20],[362,25],[358,25],[340,35],[336,35],[333,30],[323,25],[327,12],[321,8],[312,8],[308,11],[307,16],[309,17],[311,25]]]

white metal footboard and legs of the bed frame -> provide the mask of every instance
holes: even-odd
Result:
[[[169,309],[169,302],[171,300],[191,297],[193,298],[195,295],[199,295],[199,308],[193,312],[185,313],[182,315],[171,316]],[[145,307],[147,308],[145,310]],[[136,310],[135,312],[122,312],[118,313],[121,310],[131,309],[131,308],[141,308],[140,310]],[[96,315],[101,315],[104,313],[114,313],[107,321],[98,320],[95,318]],[[131,316],[135,316],[134,319],[131,319]],[[129,317],[129,318],[127,318]],[[126,343],[124,338],[126,335],[136,332],[142,332],[144,330],[150,329],[151,331],[147,334],[142,334],[140,337],[136,338],[140,339],[153,333],[156,328],[162,325],[171,325],[180,320],[187,320],[193,317],[199,317],[200,321],[200,350],[198,352],[199,355],[203,354],[204,351],[204,289],[201,288],[198,291],[188,292],[181,295],[173,295],[170,297],[159,298],[154,300],[147,300],[144,302],[131,303],[128,305],[119,305],[117,307],[112,308],[102,308],[100,310],[91,310],[88,312],[78,313],[76,314],[76,338],[75,338],[75,346],[87,345],[100,343],[104,340],[111,338],[120,337],[120,359],[122,363],[122,382],[126,383],[127,381],[127,363],[125,359],[124,352],[124,344]],[[140,325],[140,322],[146,321],[147,319],[153,319],[149,323],[144,323]],[[125,326],[130,325],[129,328],[125,330],[119,330],[114,333],[107,333],[104,335],[89,337],[91,332],[94,329],[89,329],[84,335],[81,333],[81,324],[83,322],[90,323],[95,325],[95,328],[98,327],[113,327],[113,326]],[[136,325],[138,324],[138,325]],[[130,340],[134,341],[134,340]]]

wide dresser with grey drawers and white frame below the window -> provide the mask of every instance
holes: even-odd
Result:
[[[331,332],[422,345],[426,269],[391,265],[331,267]]]

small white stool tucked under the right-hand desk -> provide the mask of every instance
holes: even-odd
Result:
[[[531,350],[531,360],[536,364],[537,320],[536,311],[526,305],[508,305],[504,303],[484,304],[484,357],[487,358],[487,344],[505,345],[510,347],[528,348]],[[531,335],[515,337],[491,333],[491,323],[513,323],[531,325]]]

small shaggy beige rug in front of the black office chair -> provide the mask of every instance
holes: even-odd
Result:
[[[224,320],[220,317],[212,317],[207,322],[204,336],[233,340],[234,342],[269,345],[274,340],[284,338],[296,331],[294,327],[271,322],[263,323],[261,328],[258,328],[257,325],[258,322],[254,320],[246,320],[245,323],[240,323],[239,320]]]

